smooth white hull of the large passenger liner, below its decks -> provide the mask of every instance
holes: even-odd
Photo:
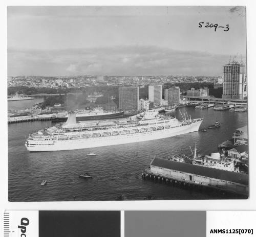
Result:
[[[194,122],[189,125],[174,127],[159,131],[149,131],[145,133],[124,134],[108,137],[86,138],[86,139],[70,139],[70,140],[45,140],[39,141],[40,145],[37,145],[37,141],[26,141],[25,146],[28,151],[40,152],[40,151],[62,151],[62,150],[76,150],[86,149],[104,146],[113,146],[120,144],[137,143],[140,141],[149,141],[162,139],[172,136],[177,136],[189,132],[196,132],[199,130],[203,120]],[[44,145],[41,145],[44,143]]]

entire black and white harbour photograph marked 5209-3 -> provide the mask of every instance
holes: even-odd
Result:
[[[249,198],[245,6],[6,10],[10,202]]]

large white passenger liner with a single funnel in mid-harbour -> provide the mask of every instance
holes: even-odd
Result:
[[[75,113],[70,113],[66,123],[30,134],[25,146],[29,151],[61,151],[137,143],[198,131],[202,121],[179,121],[148,108],[126,119],[84,123],[76,123]]]

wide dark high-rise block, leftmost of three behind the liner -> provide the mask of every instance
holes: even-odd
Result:
[[[119,86],[119,109],[125,111],[138,110],[139,87]]]

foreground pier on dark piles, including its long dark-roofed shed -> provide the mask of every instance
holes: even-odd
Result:
[[[248,175],[155,158],[142,179],[159,180],[174,186],[220,191],[248,197]]]

